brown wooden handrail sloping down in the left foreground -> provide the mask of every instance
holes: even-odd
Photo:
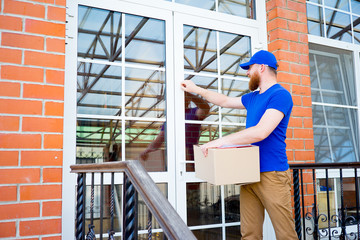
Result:
[[[77,164],[70,166],[70,168],[72,173],[124,172],[168,239],[196,239],[139,161]]]

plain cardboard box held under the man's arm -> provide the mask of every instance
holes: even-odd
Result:
[[[259,147],[211,148],[205,158],[194,145],[195,176],[214,185],[249,184],[260,181]]]

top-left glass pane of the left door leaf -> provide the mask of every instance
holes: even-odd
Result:
[[[121,13],[79,6],[78,56],[121,61]]]

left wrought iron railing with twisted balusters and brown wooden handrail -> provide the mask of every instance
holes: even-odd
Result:
[[[156,186],[144,167],[138,161],[108,162],[102,164],[78,164],[71,166],[71,172],[77,173],[77,205],[76,205],[76,239],[115,239],[115,220],[122,222],[122,239],[138,239],[138,196],[142,198],[148,209],[147,236],[143,239],[152,239],[152,219],[161,227],[164,239],[196,239],[184,221]],[[110,189],[104,192],[104,174],[110,175]],[[116,175],[123,174],[122,193],[122,220],[115,219],[115,200],[117,193],[114,185]],[[90,203],[86,203],[86,176],[91,176]],[[100,203],[99,213],[94,217],[95,177],[100,175]],[[109,187],[109,186],[107,186]],[[107,196],[105,199],[105,196]],[[97,198],[98,199],[98,198]],[[105,201],[109,201],[106,203]],[[87,217],[88,226],[85,226],[85,206],[89,204],[90,216]],[[104,206],[108,206],[107,209]],[[106,216],[105,216],[106,215]],[[118,216],[119,217],[119,216]],[[104,224],[104,218],[110,223]],[[121,219],[121,217],[120,217]],[[96,228],[95,228],[96,225]],[[108,234],[108,236],[106,236]]]

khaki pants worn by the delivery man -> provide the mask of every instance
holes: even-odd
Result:
[[[263,238],[265,211],[277,240],[298,239],[291,208],[290,171],[264,172],[260,182],[241,186],[240,221],[243,240]]]

